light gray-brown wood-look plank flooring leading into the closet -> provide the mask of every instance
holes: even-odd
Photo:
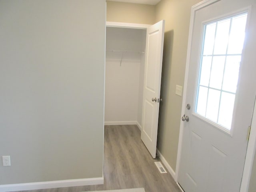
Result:
[[[140,139],[136,125],[105,126],[104,184],[31,190],[30,192],[82,192],[145,188],[145,192],[180,192],[169,173],[161,174]],[[166,170],[167,171],[167,170]]]

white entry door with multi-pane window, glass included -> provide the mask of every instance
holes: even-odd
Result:
[[[256,1],[204,3],[190,25],[178,183],[239,192],[256,95]]]

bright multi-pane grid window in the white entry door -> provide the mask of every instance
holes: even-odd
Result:
[[[247,13],[204,25],[195,112],[231,129]]]

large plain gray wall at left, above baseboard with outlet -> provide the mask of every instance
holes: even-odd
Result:
[[[0,184],[102,177],[105,0],[0,0]]]

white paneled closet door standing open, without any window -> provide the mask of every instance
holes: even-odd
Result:
[[[164,20],[150,26],[146,35],[141,139],[153,158],[156,158],[163,47]]]

